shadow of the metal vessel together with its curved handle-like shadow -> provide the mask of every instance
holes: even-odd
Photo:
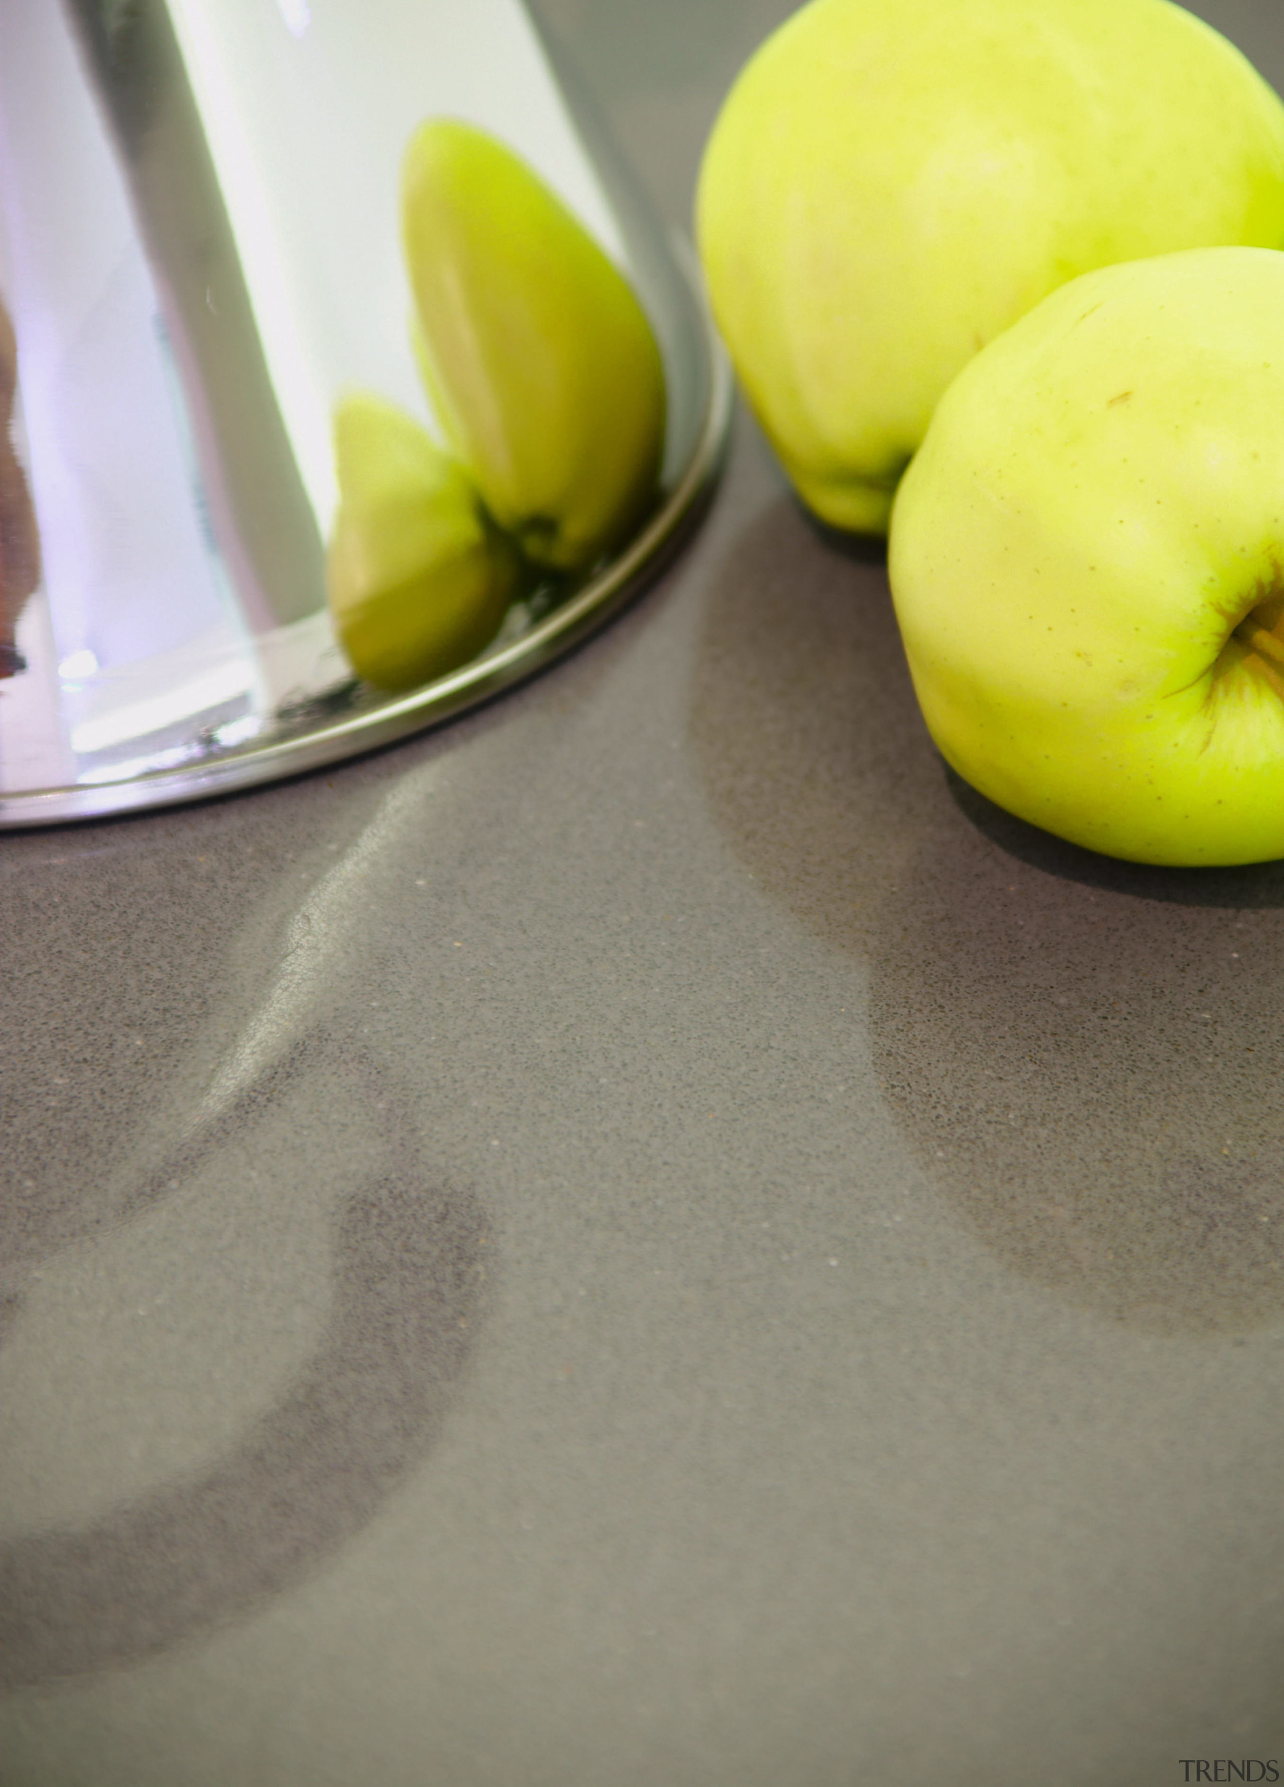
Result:
[[[350,1024],[309,1006],[277,935],[307,919],[363,836],[377,770],[348,776],[343,799],[323,777],[261,797],[254,831],[221,802],[23,838],[0,863],[0,1340],[45,1260],[141,1224],[218,1158],[252,1158],[291,1097],[321,1129],[332,1120],[338,1158],[352,1158],[330,1217],[327,1326],[275,1406],[204,1472],[0,1546],[4,1687],[139,1662],[302,1581],[432,1449],[457,1394],[493,1253],[480,1203],[439,1183],[413,1099]],[[280,988],[298,995],[289,1010],[273,1004]],[[193,1129],[255,1011],[275,1013],[279,1045]],[[371,1137],[357,1153],[354,1119]]]

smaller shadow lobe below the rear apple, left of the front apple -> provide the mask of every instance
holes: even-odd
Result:
[[[705,617],[689,738],[755,881],[863,951],[873,908],[939,801],[882,556],[789,497],[730,550]]]

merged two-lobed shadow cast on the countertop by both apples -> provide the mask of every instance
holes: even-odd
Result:
[[[868,961],[884,1097],[988,1247],[1154,1333],[1284,1319],[1284,865],[1116,863],[973,793],[877,556],[788,500],[714,588],[691,742],[754,879]]]

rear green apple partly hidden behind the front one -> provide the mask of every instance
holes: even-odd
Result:
[[[882,533],[946,384],[1039,298],[1284,243],[1284,107],[1166,0],[811,0],[721,109],[696,238],[800,497]]]

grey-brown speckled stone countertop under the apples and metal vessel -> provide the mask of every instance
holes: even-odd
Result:
[[[545,5],[675,218],[784,11]],[[566,663],[0,913],[4,1787],[1284,1757],[1284,867],[952,783],[748,424]]]

